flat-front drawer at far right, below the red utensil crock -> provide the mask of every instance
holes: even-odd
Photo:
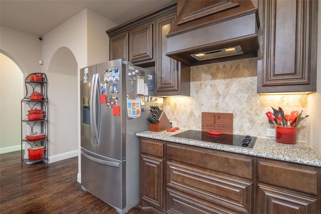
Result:
[[[317,194],[318,172],[313,167],[259,159],[258,181],[309,194]]]

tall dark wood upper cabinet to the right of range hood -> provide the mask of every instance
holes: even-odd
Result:
[[[257,92],[315,92],[318,1],[258,4]]]

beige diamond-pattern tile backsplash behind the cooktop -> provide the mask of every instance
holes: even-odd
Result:
[[[236,60],[191,67],[191,96],[168,97],[165,113],[177,121],[180,128],[201,130],[202,112],[233,113],[233,133],[266,136],[266,112],[282,107],[290,114],[303,110],[307,96],[259,95],[257,86],[257,58]],[[306,141],[308,117],[298,126],[297,140]]]

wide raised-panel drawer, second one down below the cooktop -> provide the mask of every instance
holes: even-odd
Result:
[[[250,182],[169,161],[166,181],[167,187],[233,209],[238,213],[251,213],[253,184]]]

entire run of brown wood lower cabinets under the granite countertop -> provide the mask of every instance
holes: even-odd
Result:
[[[140,205],[162,213],[321,214],[321,168],[140,137]]]

